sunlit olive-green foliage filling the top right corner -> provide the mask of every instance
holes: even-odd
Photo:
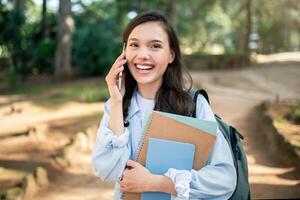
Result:
[[[297,0],[254,1],[261,53],[299,49],[300,4]]]

